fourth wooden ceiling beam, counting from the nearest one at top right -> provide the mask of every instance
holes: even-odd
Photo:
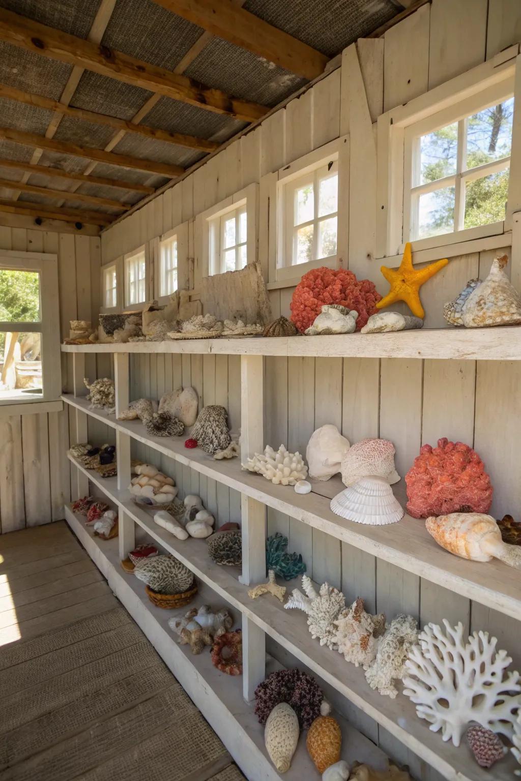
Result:
[[[171,166],[166,162],[155,162],[130,155],[116,155],[115,152],[105,152],[102,149],[80,147],[66,141],[55,141],[54,138],[46,138],[36,133],[26,133],[23,130],[13,130],[12,127],[0,127],[0,138],[14,141],[16,144],[48,149],[50,152],[59,152],[61,155],[73,155],[73,157],[86,157],[95,162],[104,162],[109,166],[132,168],[148,173],[159,173],[163,177],[179,177],[184,173],[181,166]]]

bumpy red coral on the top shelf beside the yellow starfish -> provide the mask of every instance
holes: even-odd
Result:
[[[356,330],[376,313],[381,295],[369,280],[357,280],[347,269],[312,269],[302,277],[291,299],[291,321],[301,333],[312,325],[323,304],[341,304],[359,313]]]

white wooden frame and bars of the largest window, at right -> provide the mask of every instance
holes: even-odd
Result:
[[[512,149],[510,157],[514,159],[516,147],[521,138],[516,125],[519,123],[519,84],[516,85],[516,57],[519,45],[500,52],[491,60],[462,73],[439,87],[420,95],[405,105],[398,106],[382,114],[377,120],[377,190],[376,190],[376,258],[387,261],[401,259],[406,241],[409,241],[411,227],[410,200],[407,183],[413,184],[413,145],[421,134],[429,133],[453,122],[459,122],[459,159],[454,176],[440,180],[436,186],[456,187],[455,225],[462,224],[464,198],[462,187],[469,181],[494,173],[502,161],[486,163],[476,169],[464,168],[464,149],[461,144],[462,122],[466,116],[496,105],[514,95],[514,116],[512,117]],[[519,57],[517,58],[519,59]],[[519,82],[519,78],[517,80]],[[521,152],[521,148],[519,148]],[[510,244],[505,233],[512,227],[512,211],[521,197],[520,185],[515,173],[509,177],[509,202],[505,221],[462,228],[448,234],[412,240],[412,251],[426,255],[434,251],[437,257],[453,257],[465,252],[476,251],[479,242],[487,239],[487,248],[501,248]],[[449,181],[450,180],[450,181]],[[419,185],[412,189],[412,196],[421,191],[432,190],[429,186]],[[495,239],[491,237],[496,237]],[[477,242],[477,244],[476,244]],[[466,248],[465,248],[466,247]],[[427,256],[424,258],[427,259]],[[387,265],[388,262],[387,262]],[[399,265],[399,262],[398,262]]]

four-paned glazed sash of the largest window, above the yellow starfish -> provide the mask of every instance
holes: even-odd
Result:
[[[429,130],[424,121],[406,130],[404,241],[505,219],[513,104],[495,99],[456,121],[436,126],[433,117]]]

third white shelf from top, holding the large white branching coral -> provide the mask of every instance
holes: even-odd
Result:
[[[71,460],[73,461],[73,458]],[[83,470],[80,465],[78,468]],[[166,532],[160,526],[155,526],[148,513],[131,501],[130,494],[118,491],[111,493],[109,483],[103,486],[96,481],[96,485],[101,487],[107,497],[127,512],[134,522],[146,530],[162,547],[191,569],[203,583],[300,659],[317,676],[334,686],[348,701],[384,726],[402,744],[432,765],[448,781],[490,779],[490,775],[476,765],[466,747],[456,749],[451,744],[445,744],[439,734],[430,732],[426,722],[417,719],[415,707],[406,697],[400,696],[397,700],[382,697],[369,688],[362,668],[357,669],[354,665],[344,662],[341,654],[329,651],[321,647],[317,640],[312,640],[302,613],[287,613],[278,601],[269,597],[251,600],[248,597],[247,586],[243,586],[227,569],[214,564],[204,552],[202,553],[205,551],[204,541],[177,540],[173,534]],[[192,555],[190,555],[191,551],[194,551]],[[289,588],[291,589],[291,586]],[[504,774],[494,776],[494,781],[510,779],[514,763],[511,764],[512,767],[508,772],[505,769]],[[469,772],[469,769],[473,772]]]

